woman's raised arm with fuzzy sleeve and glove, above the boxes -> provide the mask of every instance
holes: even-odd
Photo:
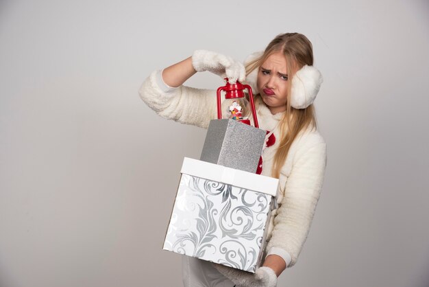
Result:
[[[162,73],[151,73],[140,87],[140,97],[162,117],[207,128],[210,119],[216,117],[216,92],[183,85],[197,71],[210,71],[231,83],[245,80],[241,62],[212,51],[197,50]]]

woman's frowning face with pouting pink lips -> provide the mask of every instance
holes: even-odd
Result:
[[[289,79],[286,58],[281,51],[276,51],[262,62],[257,85],[262,100],[273,115],[286,111]]]

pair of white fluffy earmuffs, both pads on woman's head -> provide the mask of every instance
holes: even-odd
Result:
[[[247,65],[252,60],[256,60],[262,56],[263,52],[258,51],[250,54],[245,59],[244,65]],[[252,87],[252,91],[259,93],[256,80],[258,80],[258,69],[256,67],[246,77],[246,83]],[[293,108],[306,108],[315,101],[316,95],[319,92],[323,76],[320,71],[313,66],[304,65],[299,69],[292,78],[291,87],[291,106]]]

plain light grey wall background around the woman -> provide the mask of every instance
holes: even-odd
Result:
[[[0,1],[0,286],[180,286],[161,246],[205,130],[138,88],[195,49],[243,60],[282,32],[314,45],[328,168],[278,285],[429,286],[428,27],[428,1]]]

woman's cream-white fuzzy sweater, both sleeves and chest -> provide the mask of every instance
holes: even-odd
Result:
[[[159,73],[151,73],[139,90],[143,101],[158,115],[201,128],[207,128],[210,120],[217,118],[216,91],[182,85],[166,92],[158,84]],[[262,102],[256,105],[259,127],[272,131],[282,113],[272,115]],[[274,135],[273,146],[262,152],[262,175],[266,176],[271,176],[273,157],[280,143],[278,128]],[[326,143],[317,130],[306,130],[293,142],[280,172],[278,209],[273,211],[267,236],[267,255],[280,255],[288,267],[297,261],[307,238],[325,168]]]

